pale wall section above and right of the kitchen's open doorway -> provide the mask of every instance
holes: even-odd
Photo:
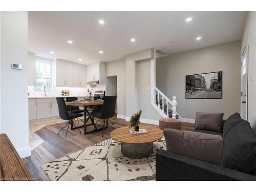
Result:
[[[117,76],[117,113],[125,117],[125,58],[106,62],[105,76]]]

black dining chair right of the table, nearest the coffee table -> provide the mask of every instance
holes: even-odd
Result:
[[[103,123],[103,129],[102,129],[102,137],[104,135],[104,129],[106,129],[106,125],[110,125],[109,118],[113,117],[116,114],[116,95],[115,96],[105,96],[102,110],[100,112],[93,113],[93,118],[99,118],[103,119],[103,121],[99,124],[101,125]],[[99,125],[97,127],[99,127]],[[111,126],[111,125],[110,125]],[[113,126],[111,126],[112,129],[114,129]]]

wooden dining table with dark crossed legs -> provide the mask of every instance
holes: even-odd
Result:
[[[102,128],[98,129],[98,127],[94,123],[94,118],[92,116],[94,111],[95,111],[95,109],[96,109],[96,106],[102,105],[102,104],[103,104],[103,100],[66,102],[66,105],[70,105],[70,111],[71,112],[72,112],[72,106],[81,106],[81,107],[83,107],[83,116],[84,116],[83,125],[82,126],[73,127],[73,121],[72,121],[71,122],[71,130],[79,129],[79,128],[83,127],[84,128],[84,134],[89,134],[89,133],[93,133],[95,131],[102,130]],[[92,107],[92,111],[91,112],[88,110],[88,107],[90,107],[90,106]],[[89,119],[91,120],[92,123],[87,124]],[[90,125],[94,126],[94,130],[87,131],[87,126],[90,126]]]

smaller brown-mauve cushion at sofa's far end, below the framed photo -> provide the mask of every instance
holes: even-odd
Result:
[[[196,130],[222,133],[223,113],[196,113]]]

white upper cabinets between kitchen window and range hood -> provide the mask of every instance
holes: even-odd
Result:
[[[86,87],[86,66],[57,59],[56,79],[59,87]]]

